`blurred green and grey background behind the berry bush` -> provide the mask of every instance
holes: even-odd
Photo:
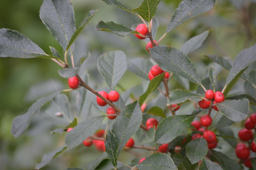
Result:
[[[142,2],[142,0],[120,1],[131,8],[139,6]],[[63,56],[60,45],[39,18],[42,2],[43,0],[0,1],[0,28],[17,30],[38,44],[46,53],[50,54],[49,46],[52,46]],[[106,87],[96,67],[97,58],[102,53],[123,50],[128,60],[134,57],[149,59],[150,55],[145,49],[146,42],[138,40],[134,35],[118,37],[115,34],[95,30],[95,25],[100,20],[111,20],[132,27],[133,24],[141,22],[140,18],[119,8],[108,6],[100,0],[71,0],[71,3],[74,6],[77,26],[83,22],[89,10],[100,10],[91,19],[76,42],[76,47],[79,47],[76,53],[77,57],[87,54],[88,51],[92,54],[90,64],[85,66],[90,75],[89,80],[94,82],[91,83],[92,86],[95,88]],[[162,0],[158,5],[156,18],[158,18],[160,26],[156,40],[164,33],[174,9],[179,3],[180,0]],[[203,46],[189,55],[201,78],[206,76],[207,66],[211,63],[209,59],[204,57],[205,54],[216,54],[233,59],[239,51],[255,43],[256,4],[249,0],[216,0],[216,5],[212,11],[178,26],[160,44],[180,48],[186,40],[208,29],[212,29],[212,31]],[[36,99],[54,92],[56,89],[68,89],[67,79],[60,78],[57,73],[59,69],[57,64],[46,59],[0,58],[1,170],[34,169],[35,164],[40,162],[45,152],[50,152],[64,144],[64,134],[50,136],[49,131],[55,129],[56,126],[53,126],[54,123],[52,123],[51,118],[44,114],[46,107],[35,116],[24,135],[17,139],[11,135],[12,119],[25,112]],[[222,72],[223,74],[219,76],[220,88],[223,87],[228,73],[226,70]],[[170,89],[180,87],[175,79],[170,84]],[[135,89],[138,91],[135,97],[138,97],[145,90],[148,81],[141,80],[132,72],[127,71],[117,90],[122,93],[122,90],[134,85],[140,85]],[[239,89],[241,85],[243,85],[242,82],[238,83],[235,89]],[[191,90],[196,90],[195,85],[191,85]],[[240,88],[240,91],[243,89]],[[74,96],[72,93],[68,95],[71,99]],[[183,108],[180,112],[185,113],[187,111],[189,109]],[[59,127],[66,125],[63,123],[62,126],[61,123],[56,124]],[[136,156],[150,154],[150,152],[134,149],[132,152],[134,153],[122,153],[120,161],[129,164]],[[94,147],[78,146],[53,159],[48,166],[42,169],[65,169],[71,166],[83,168],[85,164],[96,159],[100,154]]]

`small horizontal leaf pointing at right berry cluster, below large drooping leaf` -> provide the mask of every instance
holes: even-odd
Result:
[[[170,97],[169,97],[169,102],[171,104],[176,104],[176,103],[182,103],[187,100],[189,101],[200,101],[204,97],[199,96],[197,94],[185,91],[185,90],[173,90]]]

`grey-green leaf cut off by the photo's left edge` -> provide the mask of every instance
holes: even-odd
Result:
[[[55,58],[47,55],[24,34],[6,28],[0,29],[0,57]]]

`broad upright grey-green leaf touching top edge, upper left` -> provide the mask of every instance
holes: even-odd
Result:
[[[69,0],[44,0],[40,18],[60,46],[66,50],[68,42],[76,31],[75,14]],[[74,50],[74,46],[71,47]]]

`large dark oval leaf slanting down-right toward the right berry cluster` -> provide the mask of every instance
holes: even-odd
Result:
[[[171,71],[202,86],[194,65],[182,51],[174,47],[159,45],[150,48],[150,54],[161,69]]]

